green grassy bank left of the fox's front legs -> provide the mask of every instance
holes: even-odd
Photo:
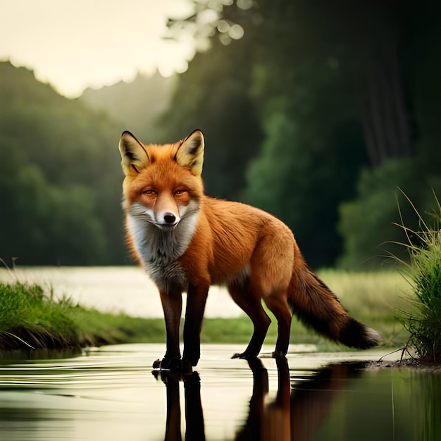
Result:
[[[163,321],[100,313],[54,300],[36,284],[0,283],[0,349],[80,348],[165,340]]]

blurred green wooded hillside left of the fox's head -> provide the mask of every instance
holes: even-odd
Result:
[[[0,256],[125,261],[118,137],[107,117],[0,63]]]

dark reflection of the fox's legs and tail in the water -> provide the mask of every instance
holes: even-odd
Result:
[[[349,378],[356,377],[363,363],[332,364],[318,371],[310,380],[291,386],[287,359],[276,359],[278,392],[273,402],[266,403],[268,371],[257,357],[248,360],[253,373],[253,390],[247,421],[236,434],[237,441],[309,441],[328,414],[333,399]],[[201,404],[199,374],[182,375],[170,371],[154,371],[166,385],[166,441],[181,440],[179,383],[185,392],[185,440],[205,440],[204,414]]]

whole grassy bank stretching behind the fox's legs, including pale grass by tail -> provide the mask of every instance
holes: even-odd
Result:
[[[383,335],[385,346],[405,344],[409,333],[395,318],[395,311],[403,309],[402,296],[409,290],[402,275],[335,270],[320,271],[319,275],[352,316]],[[246,316],[206,318],[201,341],[247,344],[252,330]],[[274,344],[276,337],[277,323],[273,320],[266,343]],[[56,293],[45,291],[40,285],[0,283],[0,350],[80,348],[125,342],[166,342],[163,319],[101,313],[74,304],[67,297],[59,299]],[[305,330],[295,318],[291,342],[314,343],[323,350],[345,349]]]

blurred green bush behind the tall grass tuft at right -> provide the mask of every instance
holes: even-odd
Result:
[[[441,191],[441,180],[426,172],[427,168],[414,158],[390,159],[382,166],[361,173],[357,197],[340,206],[339,230],[344,237],[344,252],[339,261],[342,268],[375,268],[388,262],[390,255],[406,259],[399,246],[406,240],[397,228],[402,216],[409,228],[418,227],[419,218],[409,204],[401,205],[403,197],[397,187],[417,201],[416,209],[426,213],[433,202],[433,190]],[[431,190],[432,189],[432,190]]]

